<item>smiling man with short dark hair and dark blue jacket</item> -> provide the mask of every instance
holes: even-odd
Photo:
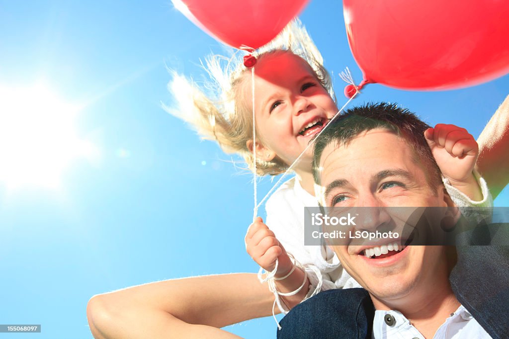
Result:
[[[315,144],[317,196],[327,207],[372,207],[353,229],[386,228],[393,216],[381,211],[385,207],[453,205],[431,156],[431,143],[426,141],[430,138],[424,136],[428,126],[415,116],[378,104],[354,108],[332,124]],[[443,149],[452,151],[453,146]],[[465,155],[455,158],[462,160]],[[380,248],[387,245],[382,242],[349,239],[345,245],[332,246],[365,291],[320,293],[281,321],[278,337],[509,336],[506,247],[458,248],[449,282],[454,248],[392,247],[384,248],[381,255]],[[378,252],[370,256],[374,248]]]

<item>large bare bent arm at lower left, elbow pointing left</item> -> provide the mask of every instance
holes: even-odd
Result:
[[[272,314],[273,294],[256,274],[158,281],[92,297],[90,329],[103,338],[238,338],[219,329]]]

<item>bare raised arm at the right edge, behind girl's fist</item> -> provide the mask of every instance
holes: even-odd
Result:
[[[480,133],[477,143],[478,170],[495,199],[509,183],[509,96]]]

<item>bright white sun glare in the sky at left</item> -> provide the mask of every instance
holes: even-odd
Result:
[[[43,83],[0,84],[0,185],[58,188],[71,160],[93,157],[94,145],[76,135],[77,113]]]

